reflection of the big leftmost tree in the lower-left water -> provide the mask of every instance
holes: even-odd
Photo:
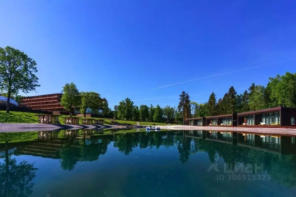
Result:
[[[6,142],[5,159],[0,163],[0,194],[5,197],[30,196],[33,189],[32,179],[38,168],[33,164],[11,159],[8,155],[8,142]]]

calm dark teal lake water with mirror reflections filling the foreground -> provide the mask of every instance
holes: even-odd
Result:
[[[133,131],[36,132],[35,141],[1,143],[0,196],[296,195],[295,137]]]

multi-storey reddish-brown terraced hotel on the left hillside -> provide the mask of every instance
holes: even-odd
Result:
[[[69,111],[64,109],[63,105],[61,105],[62,93],[49,94],[49,95],[38,95],[31,97],[24,97],[20,102],[20,105],[25,105],[33,109],[44,109],[50,110],[54,114],[64,114],[69,115]],[[102,102],[106,101],[101,99]],[[75,115],[80,114],[79,107],[73,106],[73,113]],[[92,111],[87,109],[88,114],[101,115],[103,113],[102,109],[98,109],[96,111]]]

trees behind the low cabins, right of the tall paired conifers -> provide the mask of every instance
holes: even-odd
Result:
[[[190,105],[193,108],[192,117],[242,113],[279,106],[296,107],[296,73],[286,72],[282,76],[269,77],[266,86],[252,83],[240,95],[231,86],[218,101],[212,92],[207,102]]]

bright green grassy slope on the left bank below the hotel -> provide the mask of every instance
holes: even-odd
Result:
[[[30,113],[30,112],[15,112],[11,111],[10,113],[6,113],[4,110],[0,110],[0,123],[38,123],[38,113]],[[60,116],[59,122],[64,124],[64,117],[69,117],[67,115]],[[107,118],[94,118],[97,120],[104,120],[104,124],[112,124]],[[136,125],[135,121],[122,121],[116,120],[120,124],[132,124]],[[81,121],[80,121],[81,123]],[[166,125],[166,123],[152,123],[152,122],[139,122],[140,125]]]

